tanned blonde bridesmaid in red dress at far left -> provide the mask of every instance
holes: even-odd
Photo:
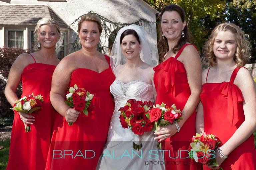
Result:
[[[39,50],[32,54],[21,54],[14,61],[5,96],[13,106],[18,100],[15,91],[22,80],[21,96],[41,94],[44,102],[41,110],[31,116],[26,113],[14,114],[7,170],[45,169],[54,116],[57,114],[50,103],[50,90],[52,74],[59,63],[55,45],[60,38],[60,26],[53,19],[43,18],[38,21],[34,35]],[[25,132],[26,124],[31,125],[30,132]]]

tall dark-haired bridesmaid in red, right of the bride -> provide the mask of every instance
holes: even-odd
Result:
[[[185,21],[185,12],[178,5],[168,5],[161,11],[158,42],[162,61],[154,68],[157,91],[156,104],[175,104],[184,116],[179,123],[161,127],[159,142],[164,141],[166,169],[200,169],[190,164],[189,143],[195,135],[196,106],[201,92],[201,62],[197,48],[190,44],[191,36]]]

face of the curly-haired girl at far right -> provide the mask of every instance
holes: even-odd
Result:
[[[236,47],[235,35],[229,31],[220,31],[214,40],[213,52],[217,59],[234,58]]]

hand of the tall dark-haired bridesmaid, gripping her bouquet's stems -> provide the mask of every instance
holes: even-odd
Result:
[[[161,142],[166,138],[173,136],[175,133],[177,133],[176,126],[170,124],[165,127],[160,127],[159,130],[154,133],[159,136],[155,137],[154,139],[159,140],[158,142]]]

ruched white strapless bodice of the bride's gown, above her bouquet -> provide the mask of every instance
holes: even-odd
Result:
[[[143,80],[132,80],[129,83],[123,83],[121,80],[115,80],[110,86],[110,92],[115,99],[115,112],[129,99],[142,101],[153,100],[153,86]]]

